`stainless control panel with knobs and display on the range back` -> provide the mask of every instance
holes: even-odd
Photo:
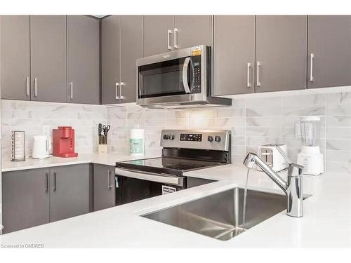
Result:
[[[227,151],[230,130],[162,130],[161,147]]]

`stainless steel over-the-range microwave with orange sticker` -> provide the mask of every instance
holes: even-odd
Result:
[[[211,97],[211,49],[194,46],[136,60],[138,105],[150,108],[227,106]]]

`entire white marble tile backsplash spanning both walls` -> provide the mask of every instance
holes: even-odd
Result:
[[[326,91],[325,91],[326,90]],[[232,107],[211,109],[144,109],[135,103],[115,107],[51,102],[1,100],[1,147],[11,156],[11,130],[26,131],[26,155],[32,154],[32,136],[50,129],[72,126],[80,153],[97,151],[98,123],[109,123],[112,152],[128,154],[131,128],[145,129],[145,153],[160,154],[164,128],[214,128],[232,130],[232,160],[241,163],[247,152],[262,144],[284,143],[296,161],[300,139],[295,123],[301,115],[322,116],[321,151],[326,170],[351,174],[351,87],[299,90],[295,93],[234,96]]]

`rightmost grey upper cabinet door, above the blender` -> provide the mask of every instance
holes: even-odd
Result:
[[[351,85],[351,15],[308,17],[307,67],[307,88]]]

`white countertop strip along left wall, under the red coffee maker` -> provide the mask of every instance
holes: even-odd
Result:
[[[46,168],[55,166],[69,166],[79,163],[98,163],[107,166],[114,166],[117,161],[137,160],[158,156],[130,156],[127,154],[79,154],[77,157],[61,158],[50,156],[46,159],[28,158],[26,161],[3,160],[1,171],[10,172],[14,170],[26,170],[35,168]]]

